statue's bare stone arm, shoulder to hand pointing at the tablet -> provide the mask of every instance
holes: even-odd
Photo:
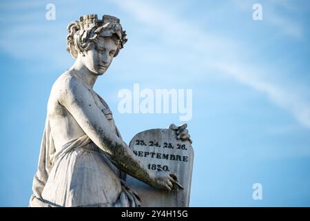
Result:
[[[169,180],[165,174],[158,180],[158,174],[148,171],[127,144],[112,131],[105,115],[96,106],[90,89],[74,77],[64,79],[63,83],[59,90],[59,103],[67,108],[92,142],[111,155],[118,169],[151,186],[171,189],[168,184],[174,182],[173,179]]]

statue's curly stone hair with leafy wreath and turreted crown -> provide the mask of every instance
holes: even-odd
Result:
[[[67,51],[74,59],[79,52],[84,55],[92,41],[96,41],[99,36],[111,37],[118,46],[114,57],[118,55],[119,50],[127,41],[126,32],[123,30],[120,20],[110,15],[103,15],[102,20],[99,20],[97,15],[84,15],[80,17],[80,21],[71,22],[67,29],[69,32]]]

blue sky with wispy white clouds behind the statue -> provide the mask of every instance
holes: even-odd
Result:
[[[45,19],[54,3],[56,20]],[[262,21],[252,19],[254,3]],[[120,114],[122,88],[193,89],[191,206],[310,206],[309,1],[1,1],[0,206],[27,206],[66,27],[115,15],[128,42],[95,90],[125,142],[176,114]],[[165,80],[163,80],[165,79]],[[252,185],[262,184],[262,200]]]

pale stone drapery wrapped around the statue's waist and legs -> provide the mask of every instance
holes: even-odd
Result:
[[[107,119],[110,117],[116,135],[121,138],[110,108],[100,96],[99,99],[107,107],[103,113]],[[115,185],[104,186],[110,185],[110,181]],[[118,185],[119,195],[114,200],[109,191],[117,191]],[[87,135],[70,140],[56,151],[48,117],[32,191],[29,206],[141,206],[137,193],[125,182],[125,173]]]

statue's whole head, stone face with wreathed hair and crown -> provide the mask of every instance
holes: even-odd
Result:
[[[68,26],[67,51],[96,75],[102,75],[126,43],[120,20],[110,15],[84,15]]]

